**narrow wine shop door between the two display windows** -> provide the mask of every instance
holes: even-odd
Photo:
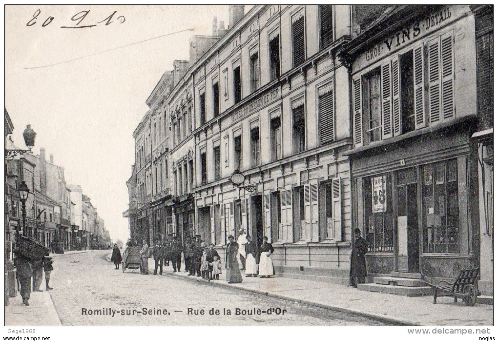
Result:
[[[418,245],[417,184],[397,186],[397,228],[399,271],[420,272]]]

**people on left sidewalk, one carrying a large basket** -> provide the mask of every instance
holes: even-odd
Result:
[[[40,290],[43,280],[43,272],[45,272],[45,289],[52,290],[49,286],[50,273],[54,269],[52,257],[47,253],[41,259],[28,258],[20,252],[18,248],[14,248],[14,265],[16,267],[17,289],[22,297],[22,303],[29,306],[29,298],[31,296],[31,278],[33,291]]]

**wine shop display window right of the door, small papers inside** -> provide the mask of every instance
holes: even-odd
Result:
[[[460,253],[457,160],[423,166],[423,251]]]

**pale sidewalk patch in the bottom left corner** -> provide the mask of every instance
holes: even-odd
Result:
[[[22,304],[19,293],[5,307],[5,326],[61,326],[48,291],[32,292],[29,306]]]

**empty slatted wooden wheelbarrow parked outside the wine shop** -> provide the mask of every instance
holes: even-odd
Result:
[[[476,304],[479,295],[477,276],[479,276],[479,268],[464,269],[460,270],[460,274],[453,283],[446,280],[441,280],[439,284],[425,283],[434,289],[434,304],[437,303],[438,296],[453,296],[455,302],[461,298],[466,305],[472,307]]]

